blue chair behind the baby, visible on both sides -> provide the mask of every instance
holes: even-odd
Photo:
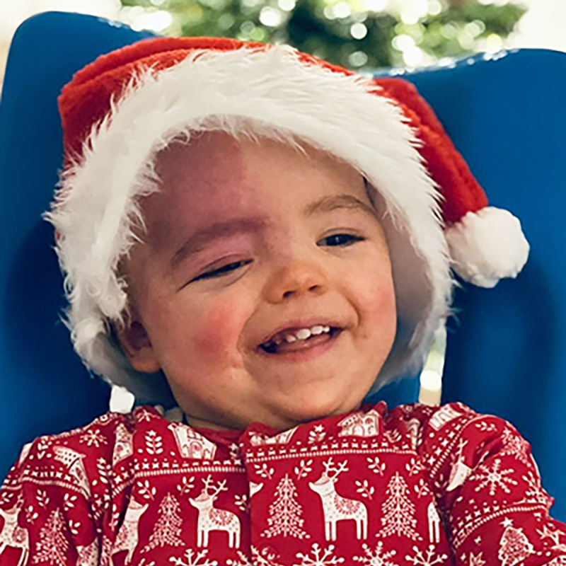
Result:
[[[0,106],[0,478],[25,442],[86,424],[108,408],[108,387],[88,376],[58,322],[62,281],[52,231],[40,214],[62,157],[60,88],[98,54],[149,36],[91,16],[45,13],[13,39]],[[556,321],[566,314],[559,292],[565,268],[551,258],[565,238],[558,207],[549,204],[560,186],[558,136],[566,111],[555,82],[564,88],[566,55],[532,50],[492,59],[498,60],[473,57],[450,69],[405,74],[437,111],[493,204],[521,218],[533,246],[516,281],[489,291],[464,285],[456,294],[461,328],[449,325],[444,401],[461,400],[514,422],[533,444],[543,483],[557,498],[554,515],[564,520],[566,427],[558,411],[566,400],[560,379],[566,356]],[[543,115],[547,108],[550,118]],[[541,187],[537,202],[527,201],[533,185]],[[394,405],[416,394],[417,381],[403,380],[378,397]]]

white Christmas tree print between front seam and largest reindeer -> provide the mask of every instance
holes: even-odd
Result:
[[[310,538],[301,527],[304,519],[301,517],[303,509],[296,501],[296,490],[289,474],[277,484],[275,501],[270,505],[270,516],[267,524],[270,528],[263,531],[262,536],[294,536],[296,538]]]

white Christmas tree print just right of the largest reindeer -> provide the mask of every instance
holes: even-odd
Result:
[[[389,480],[386,494],[388,495],[383,503],[383,516],[381,524],[383,529],[379,536],[389,536],[393,533],[407,536],[413,541],[420,540],[422,537],[415,531],[417,519],[415,519],[415,505],[409,497],[409,489],[400,473]]]

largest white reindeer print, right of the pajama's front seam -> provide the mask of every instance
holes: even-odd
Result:
[[[338,475],[347,472],[347,461],[339,464],[337,468],[333,466],[332,458],[323,462],[325,470],[316,482],[309,482],[311,490],[320,495],[323,502],[324,513],[324,532],[327,541],[336,540],[336,523],[352,519],[356,521],[356,537],[359,539],[367,538],[367,508],[357,499],[346,499],[338,495],[335,490],[335,483]]]

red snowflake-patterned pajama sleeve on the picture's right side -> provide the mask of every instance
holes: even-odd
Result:
[[[549,516],[554,500],[512,424],[461,403],[416,412],[418,449],[455,563],[566,565],[566,525]]]

